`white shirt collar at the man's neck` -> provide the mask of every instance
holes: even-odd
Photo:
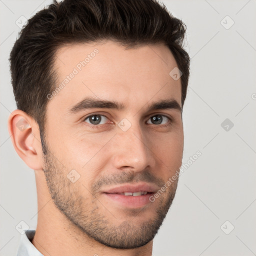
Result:
[[[31,243],[35,229],[28,229],[21,234],[16,256],[43,256]]]

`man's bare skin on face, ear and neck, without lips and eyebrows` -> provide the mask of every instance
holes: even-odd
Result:
[[[43,254],[57,255],[151,255],[153,237],[173,200],[177,179],[155,199],[140,208],[121,207],[100,191],[121,183],[145,181],[158,188],[180,167],[183,125],[178,109],[148,112],[152,101],[172,98],[181,106],[181,82],[169,75],[177,66],[163,44],[125,49],[107,40],[65,45],[56,52],[54,67],[58,84],[84,57],[90,59],[46,108],[42,152],[39,127],[16,109],[8,119],[15,150],[34,169],[37,189],[37,227],[33,245]],[[123,110],[86,109],[69,114],[75,103],[91,96],[115,100]],[[103,114],[98,128],[91,128],[90,114]],[[155,124],[152,116],[162,116]],[[16,123],[23,118],[24,130]],[[126,118],[131,126],[117,125]],[[169,125],[163,126],[169,122]],[[73,183],[67,174],[75,169]]]

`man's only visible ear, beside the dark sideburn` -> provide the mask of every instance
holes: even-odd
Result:
[[[39,126],[36,121],[20,109],[11,112],[8,131],[19,157],[33,170],[42,169],[42,148]]]

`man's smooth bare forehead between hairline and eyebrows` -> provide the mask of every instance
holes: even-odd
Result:
[[[128,49],[110,40],[69,44],[55,56],[57,89],[48,105],[57,111],[67,111],[85,96],[118,101],[134,111],[167,97],[181,104],[180,79],[169,75],[177,64],[163,44]]]

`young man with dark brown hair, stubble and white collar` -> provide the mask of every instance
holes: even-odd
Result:
[[[54,1],[28,20],[8,129],[38,215],[17,255],[151,255],[182,160],[184,34],[154,0]]]

